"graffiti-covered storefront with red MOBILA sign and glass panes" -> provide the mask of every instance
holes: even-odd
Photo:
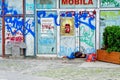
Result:
[[[95,53],[102,33],[120,25],[118,0],[2,0],[0,53],[10,41],[25,42],[26,56]],[[19,4],[16,4],[19,3]]]

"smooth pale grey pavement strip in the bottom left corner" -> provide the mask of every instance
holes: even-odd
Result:
[[[1,71],[0,80],[57,80],[48,77],[31,76],[27,74],[20,74],[18,72]]]

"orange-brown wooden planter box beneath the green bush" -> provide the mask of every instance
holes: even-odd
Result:
[[[97,50],[97,60],[120,64],[120,52],[108,53],[106,50]]]

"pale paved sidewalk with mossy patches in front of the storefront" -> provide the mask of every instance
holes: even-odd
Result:
[[[120,80],[120,65],[85,59],[2,59],[0,80]]]

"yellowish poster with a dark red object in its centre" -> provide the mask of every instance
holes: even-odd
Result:
[[[60,19],[60,34],[61,36],[74,35],[74,18],[61,18]]]

